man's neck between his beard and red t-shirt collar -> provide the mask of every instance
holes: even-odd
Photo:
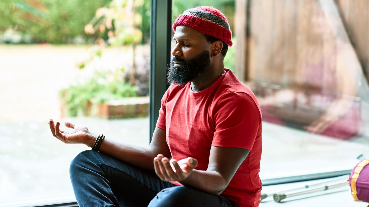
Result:
[[[220,76],[222,76],[224,71],[224,64],[217,64],[217,67],[208,66],[207,72],[196,80],[191,81],[191,88],[193,92],[200,92],[205,88],[213,84]]]

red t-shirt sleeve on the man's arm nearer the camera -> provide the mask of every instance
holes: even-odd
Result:
[[[212,146],[252,150],[261,124],[261,113],[250,95],[224,94],[215,106],[215,132]]]

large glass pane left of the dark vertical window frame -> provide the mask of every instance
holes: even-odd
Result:
[[[73,200],[70,161],[85,145],[49,119],[149,143],[150,0],[0,2],[0,205]]]

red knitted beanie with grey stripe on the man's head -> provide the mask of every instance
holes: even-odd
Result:
[[[230,25],[224,14],[214,7],[190,8],[179,15],[173,23],[173,31],[178,25],[192,27],[206,35],[213,36],[232,46]]]

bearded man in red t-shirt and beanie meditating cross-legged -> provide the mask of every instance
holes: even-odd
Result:
[[[213,7],[196,7],[173,31],[172,85],[148,148],[80,124],[66,122],[74,129],[66,133],[49,121],[56,138],[93,149],[70,166],[79,206],[259,205],[261,112],[252,91],[223,66],[232,45],[228,21]]]

